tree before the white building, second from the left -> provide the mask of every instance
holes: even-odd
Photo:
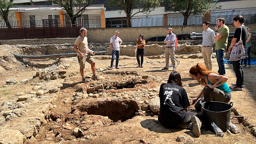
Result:
[[[52,4],[63,7],[71,20],[72,25],[75,24],[75,20],[82,16],[82,13],[86,11],[86,7],[92,4],[93,0],[49,0]],[[64,14],[64,15],[65,15]]]

